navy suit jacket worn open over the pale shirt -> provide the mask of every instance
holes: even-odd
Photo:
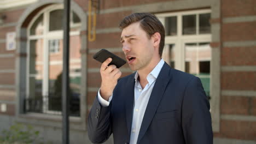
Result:
[[[135,73],[118,81],[113,99],[103,107],[97,98],[88,117],[93,143],[129,143],[132,124]],[[139,144],[212,144],[210,104],[198,77],[164,64],[144,113]]]

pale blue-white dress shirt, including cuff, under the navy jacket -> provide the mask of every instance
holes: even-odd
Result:
[[[131,126],[131,136],[130,136],[130,144],[136,144],[139,130],[141,129],[142,119],[144,117],[144,113],[146,111],[148,100],[150,98],[150,94],[155,85],[155,81],[164,65],[164,60],[160,60],[160,62],[155,66],[155,68],[148,74],[147,80],[148,83],[142,89],[141,83],[138,81],[138,72],[135,74],[135,87],[134,87],[134,104],[133,104],[133,117],[132,117],[132,126]],[[98,91],[98,101],[102,106],[108,106],[110,101],[112,100],[113,95],[109,98],[108,101],[104,100],[100,95],[100,90]]]

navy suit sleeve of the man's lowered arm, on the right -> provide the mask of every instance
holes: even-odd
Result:
[[[185,89],[182,104],[182,129],[186,144],[212,144],[210,103],[198,77]]]

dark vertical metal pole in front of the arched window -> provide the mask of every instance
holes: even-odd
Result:
[[[69,9],[64,0],[63,13],[63,72],[62,72],[62,143],[69,144]]]

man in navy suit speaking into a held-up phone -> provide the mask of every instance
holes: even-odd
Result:
[[[152,14],[135,13],[120,23],[120,42],[132,70],[102,63],[101,88],[88,118],[93,143],[212,144],[210,104],[198,77],[162,59],[165,30]],[[119,79],[119,80],[118,80]]]

